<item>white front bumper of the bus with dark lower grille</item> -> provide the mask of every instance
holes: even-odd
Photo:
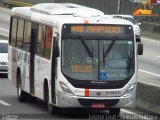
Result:
[[[128,97],[80,97],[68,96],[62,92],[57,94],[57,107],[74,108],[87,107],[92,108],[93,104],[104,104],[107,108],[134,108],[136,100],[136,92],[134,91]]]

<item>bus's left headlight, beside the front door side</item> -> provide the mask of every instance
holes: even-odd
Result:
[[[70,96],[74,96],[74,93],[72,92],[71,89],[69,89],[69,87],[63,83],[63,82],[59,82],[60,83],[60,86],[62,88],[62,91],[66,94],[66,95],[70,95]]]

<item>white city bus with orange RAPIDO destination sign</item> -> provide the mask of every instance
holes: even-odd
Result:
[[[134,107],[143,45],[137,46],[131,22],[103,16],[69,3],[11,10],[8,78],[20,102],[32,96],[50,111],[81,107],[111,114]]]

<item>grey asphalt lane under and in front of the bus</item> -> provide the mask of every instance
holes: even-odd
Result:
[[[51,120],[51,119],[119,119],[129,120],[130,118],[139,118],[142,120],[159,120],[159,116],[147,113],[137,109],[122,109],[120,116],[110,116],[107,110],[96,111],[88,109],[60,109],[56,114],[50,114],[47,104],[41,100],[36,103],[20,103],[17,99],[16,87],[1,75],[0,78],[0,115],[16,118],[14,120]],[[6,120],[6,119],[4,119]],[[12,120],[12,119],[7,119]],[[131,119],[132,120],[132,119]]]

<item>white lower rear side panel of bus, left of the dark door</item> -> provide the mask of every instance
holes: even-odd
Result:
[[[11,51],[10,51],[11,50]],[[22,51],[17,48],[9,49],[9,66],[10,66],[10,73],[9,73],[9,79],[17,85],[17,74],[18,69],[20,70],[21,75],[21,84],[22,84],[22,90],[29,92],[29,64],[30,64],[30,54]]]

